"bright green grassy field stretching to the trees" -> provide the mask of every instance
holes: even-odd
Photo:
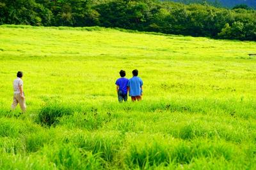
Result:
[[[1,25],[0,169],[256,169],[248,53],[255,42]],[[120,69],[139,70],[140,103],[118,103]]]

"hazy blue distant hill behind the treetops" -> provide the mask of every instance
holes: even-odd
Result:
[[[256,9],[256,0],[170,0],[175,2],[181,2],[181,3],[202,3],[204,1],[208,1],[209,3],[215,4],[218,6],[219,4],[221,6],[225,6],[228,8],[232,8],[236,6],[237,4],[246,4],[250,6],[251,8]]]

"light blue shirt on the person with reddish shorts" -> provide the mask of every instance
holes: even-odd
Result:
[[[129,96],[141,96],[141,86],[143,81],[138,76],[133,76],[128,82]]]

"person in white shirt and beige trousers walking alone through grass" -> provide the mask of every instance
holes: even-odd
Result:
[[[25,96],[23,92],[23,81],[22,81],[23,73],[21,71],[18,71],[17,78],[13,81],[13,103],[11,106],[11,110],[15,110],[17,104],[20,104],[20,108],[22,112],[26,112],[26,102],[25,102]]]

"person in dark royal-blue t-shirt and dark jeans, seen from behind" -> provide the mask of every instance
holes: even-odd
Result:
[[[118,101],[122,102],[123,100],[127,101],[127,84],[129,80],[124,77],[124,70],[120,71],[120,76],[121,78],[118,78],[118,80],[116,80],[116,92],[118,96]]]

